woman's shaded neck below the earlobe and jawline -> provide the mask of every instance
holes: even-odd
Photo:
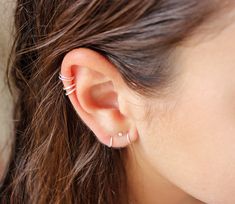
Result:
[[[203,204],[161,176],[137,152],[125,152],[130,204]]]

